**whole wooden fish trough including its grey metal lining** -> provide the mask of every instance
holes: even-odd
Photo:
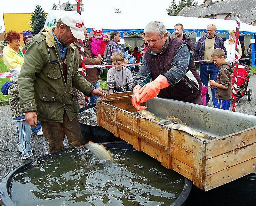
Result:
[[[164,167],[190,179],[204,191],[256,171],[256,117],[252,115],[174,100],[166,106],[164,101],[169,104],[170,100],[160,98],[147,102],[147,109],[161,118],[172,114],[189,126],[201,131],[209,130],[209,134],[218,137],[203,142],[186,132],[132,114],[136,111],[131,103],[132,92],[109,94],[107,98],[96,103],[99,126],[132,144],[136,150],[155,158]],[[200,115],[193,115],[193,111]],[[218,122],[211,119],[215,114]],[[242,123],[237,123],[239,115]],[[205,121],[201,128],[197,124],[199,119]],[[223,127],[222,122],[231,126]],[[211,127],[215,130],[212,133]]]

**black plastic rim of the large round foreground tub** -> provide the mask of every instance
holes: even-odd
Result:
[[[122,149],[122,150],[135,150],[132,147],[132,145],[130,145],[129,143],[126,143],[126,142],[108,142],[108,143],[103,143],[103,145],[108,149],[112,148],[112,149]],[[71,149],[74,149],[74,147],[69,147],[64,150],[68,151]],[[59,152],[60,151],[56,151],[56,152],[49,153],[49,154],[57,155]],[[49,154],[40,156],[36,160],[42,160],[45,156],[48,156]],[[10,197],[10,189],[11,189],[12,180],[13,180],[15,174],[19,173],[21,170],[29,168],[33,164],[34,161],[35,160],[32,160],[32,161],[29,161],[29,162],[26,162],[26,163],[20,165],[19,167],[12,170],[9,174],[7,174],[3,178],[2,182],[0,183],[0,196],[1,196],[1,199],[5,206],[15,206],[16,205]],[[192,188],[192,182],[190,180],[188,180],[187,178],[185,178],[183,190],[182,190],[180,196],[175,200],[175,202],[172,203],[172,206],[185,205],[185,202],[188,198],[191,188]],[[24,205],[26,205],[26,202],[24,202]]]

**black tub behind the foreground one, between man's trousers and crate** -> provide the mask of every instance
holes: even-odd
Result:
[[[96,107],[96,104],[84,106],[79,109],[78,113],[81,113],[84,110],[90,109],[92,107]],[[122,141],[122,139],[115,137],[113,133],[98,125],[95,126],[91,124],[85,124],[81,123],[80,121],[79,124],[81,128],[81,133],[84,138],[84,143],[87,143],[88,141],[92,141],[95,143]]]

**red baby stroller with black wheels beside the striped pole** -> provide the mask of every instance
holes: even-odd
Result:
[[[250,80],[250,70],[252,66],[249,67],[244,63],[238,63],[237,69],[237,89],[236,89],[236,106],[240,104],[240,99],[247,95],[248,101],[252,100],[252,90],[248,90],[248,83]],[[234,88],[234,73],[232,74],[232,92]]]

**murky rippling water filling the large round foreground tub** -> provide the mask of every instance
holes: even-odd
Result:
[[[60,151],[37,160],[13,178],[17,205],[170,205],[185,179],[148,155],[111,150],[114,162],[86,149]],[[22,198],[21,198],[22,197]]]

